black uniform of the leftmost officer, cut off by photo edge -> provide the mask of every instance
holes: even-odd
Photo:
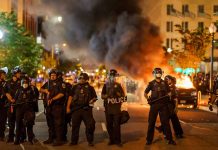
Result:
[[[5,95],[6,81],[0,81],[0,141],[5,137],[5,126],[7,121],[7,108],[5,107],[7,97]]]

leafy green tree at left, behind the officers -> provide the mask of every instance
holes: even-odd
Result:
[[[30,76],[35,76],[40,66],[42,46],[23,25],[17,23],[14,13],[0,12],[0,29],[4,37],[0,41],[1,65],[9,69],[20,66]]]

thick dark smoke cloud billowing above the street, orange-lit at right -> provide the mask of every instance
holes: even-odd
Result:
[[[68,57],[85,53],[87,60],[94,58],[143,79],[154,67],[164,64],[164,54],[159,28],[142,15],[141,2],[42,0],[36,10],[48,18],[63,17],[56,25],[51,19],[44,23],[47,44],[65,41],[69,44]]]

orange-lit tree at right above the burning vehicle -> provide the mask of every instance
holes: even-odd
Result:
[[[178,49],[173,49],[171,62],[181,68],[197,69],[200,62],[205,59],[205,53],[211,42],[211,35],[208,28],[195,29],[193,31],[183,30],[181,25],[176,25],[177,31],[181,35],[182,41],[175,39]],[[181,45],[183,47],[181,48]]]

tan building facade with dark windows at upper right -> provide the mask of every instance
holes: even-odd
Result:
[[[218,27],[218,0],[146,0],[144,14],[160,27],[163,46],[178,49],[175,39],[180,34],[175,31],[176,24],[184,30],[209,27],[211,23]],[[218,32],[215,33],[214,70],[218,71]],[[209,60],[210,47],[206,57]],[[209,72],[209,62],[202,62],[201,71]]]

